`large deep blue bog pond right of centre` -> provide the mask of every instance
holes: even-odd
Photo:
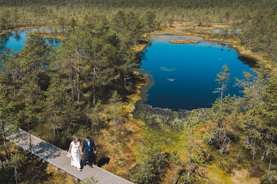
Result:
[[[155,35],[147,50],[139,53],[142,57],[140,68],[150,71],[155,81],[147,92],[149,96],[145,104],[173,110],[211,107],[219,96],[212,93],[218,86],[216,74],[224,64],[231,73],[230,89],[226,94],[243,95],[238,87],[233,87],[234,77],[243,78],[243,70],[250,71],[255,61],[216,42],[199,39],[197,44],[172,44],[170,40],[184,38],[180,35],[172,35],[172,38],[168,34]]]

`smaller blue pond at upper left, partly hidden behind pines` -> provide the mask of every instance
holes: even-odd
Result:
[[[0,38],[3,39],[6,47],[14,48],[14,51],[19,51],[23,48],[22,43],[26,41],[28,37],[27,34],[34,31],[44,31],[50,33],[49,29],[40,28],[40,29],[26,29],[26,30],[18,30],[18,31],[11,31],[9,34],[1,35]],[[54,45],[60,45],[59,41],[56,39],[45,39],[47,42],[53,43]]]

